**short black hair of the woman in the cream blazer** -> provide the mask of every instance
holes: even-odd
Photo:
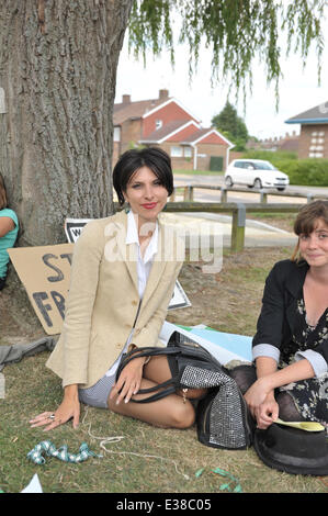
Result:
[[[140,150],[126,150],[120,156],[113,170],[113,186],[118,202],[124,204],[123,192],[132,176],[142,167],[148,167],[167,189],[168,194],[173,192],[173,173],[170,156],[159,147],[147,147]]]

